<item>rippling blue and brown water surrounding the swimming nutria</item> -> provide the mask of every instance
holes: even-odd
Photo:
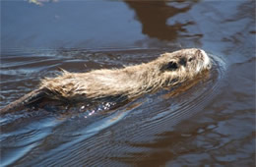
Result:
[[[3,107],[53,77],[203,48],[210,74],[109,110],[0,118],[1,166],[255,166],[255,1],[1,1]]]

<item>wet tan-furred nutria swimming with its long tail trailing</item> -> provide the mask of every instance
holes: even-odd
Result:
[[[205,51],[191,48],[164,53],[152,62],[123,69],[69,73],[43,79],[38,89],[10,103],[0,114],[22,109],[41,98],[65,102],[94,101],[108,97],[131,99],[141,94],[190,80],[211,68]]]

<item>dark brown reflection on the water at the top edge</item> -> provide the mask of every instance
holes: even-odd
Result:
[[[180,31],[186,31],[186,26],[193,22],[175,22],[171,26],[167,21],[191,9],[195,2],[169,1],[125,1],[135,11],[136,19],[142,24],[142,32],[149,37],[160,40],[174,40]]]

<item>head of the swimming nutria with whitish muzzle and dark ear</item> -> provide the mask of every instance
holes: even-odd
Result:
[[[164,53],[158,59],[161,78],[170,85],[192,79],[211,68],[211,60],[202,49],[182,49]]]

